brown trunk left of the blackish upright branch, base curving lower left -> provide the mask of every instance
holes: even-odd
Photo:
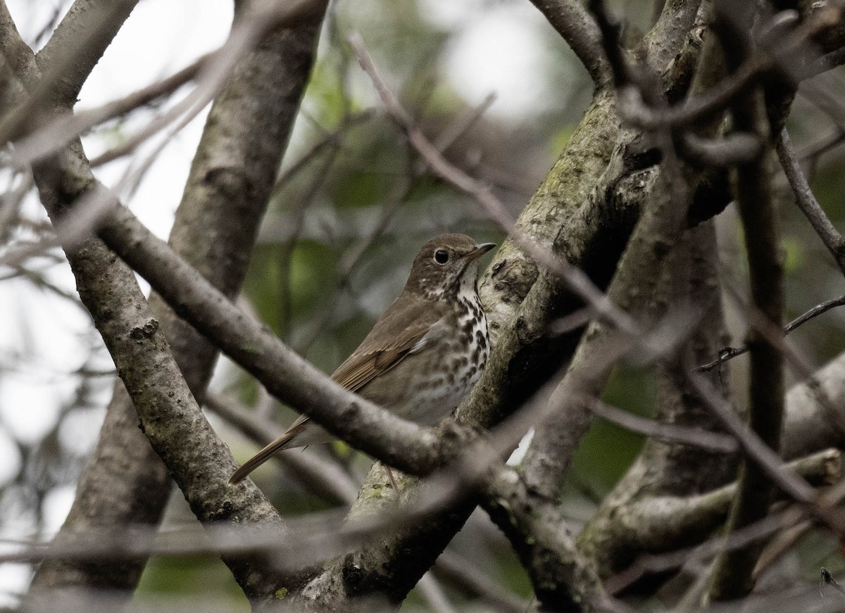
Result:
[[[664,259],[659,277],[657,301],[676,309],[690,309],[687,317],[696,323],[689,338],[659,363],[656,419],[661,424],[683,425],[695,431],[721,431],[719,421],[695,398],[685,373],[678,367],[684,360],[711,355],[725,335],[717,282],[716,231],[711,221],[684,234],[684,239]],[[724,375],[711,374],[711,382],[717,383],[719,376]],[[618,572],[634,560],[641,548],[650,546],[650,541],[641,540],[640,533],[631,534],[635,523],[628,518],[639,513],[633,509],[651,508],[653,499],[683,501],[711,491],[732,478],[736,461],[736,453],[712,453],[650,438],[578,535],[579,548],[596,560],[602,577]],[[679,545],[669,545],[673,546]]]

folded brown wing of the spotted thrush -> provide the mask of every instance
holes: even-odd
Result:
[[[363,388],[374,377],[444,334],[437,325],[444,312],[439,302],[423,301],[419,296],[403,293],[331,377],[352,392]]]

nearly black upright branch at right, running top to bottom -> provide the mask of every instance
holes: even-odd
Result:
[[[720,38],[728,65],[735,69],[750,57],[748,31],[753,19],[753,6],[743,8],[717,5]],[[738,13],[725,18],[726,13]],[[755,88],[740,96],[733,106],[733,127],[757,133],[767,140],[769,122],[762,90]],[[783,357],[776,340],[769,338],[771,328],[778,332],[783,317],[783,271],[777,233],[777,220],[771,198],[768,158],[737,169],[736,201],[745,231],[748,253],[751,299],[753,307],[764,317],[762,326],[751,328],[749,415],[750,427],[762,442],[777,452],[780,446],[783,415]],[[739,496],[728,520],[728,530],[739,529],[766,516],[773,486],[766,471],[746,460],[740,473]],[[719,557],[714,570],[709,597],[714,601],[736,599],[750,593],[751,573],[760,555],[760,545],[727,551]]]

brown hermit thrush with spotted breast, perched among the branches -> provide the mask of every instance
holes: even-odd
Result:
[[[481,376],[490,353],[478,300],[478,258],[495,247],[444,234],[417,254],[399,297],[331,377],[407,420],[433,426],[450,415]],[[306,415],[232,475],[243,480],[284,448],[333,439]]]

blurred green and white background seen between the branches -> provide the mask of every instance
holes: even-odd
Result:
[[[36,50],[69,5],[8,0],[21,34]],[[635,42],[660,3],[618,2],[612,8],[624,22],[625,40]],[[78,108],[127,95],[214,50],[226,40],[231,19],[230,0],[142,0],[92,73]],[[564,148],[592,94],[580,62],[526,0],[332,3],[240,300],[244,309],[326,372],[357,346],[401,290],[413,256],[430,236],[460,231],[478,241],[503,238],[472,201],[428,173],[384,117],[346,43],[356,31],[428,137],[455,164],[492,185],[514,216]],[[799,96],[788,125],[810,169],[815,195],[840,229],[845,221],[845,109],[838,102],[845,100],[842,84],[841,71],[814,79],[813,101]],[[95,158],[122,143],[187,91],[98,127],[83,139],[86,153]],[[820,104],[825,99],[832,101]],[[133,155],[95,169],[161,237],[172,224],[204,115],[175,135],[153,138]],[[842,294],[843,285],[778,177],[791,319]],[[2,173],[0,185],[7,193],[27,189],[20,177]],[[720,216],[718,226],[723,279],[744,296],[741,236],[732,209]],[[19,217],[0,219],[0,254],[48,231],[46,215],[30,193]],[[16,540],[47,540],[63,522],[110,399],[114,373],[60,251],[2,268],[0,280],[0,551],[14,551]],[[744,323],[729,296],[726,307],[739,342]],[[810,363],[820,365],[842,350],[843,326],[845,312],[833,311],[792,338]],[[739,360],[734,364],[739,386],[743,365]],[[655,387],[650,369],[622,366],[605,400],[650,415]],[[282,426],[296,416],[225,359],[211,388]],[[737,398],[741,402],[742,394]],[[243,461],[254,453],[254,442],[226,420],[211,418],[236,458]],[[641,443],[638,435],[596,420],[570,475],[575,523],[589,517]],[[363,475],[369,465],[368,458],[341,443],[314,451],[343,463],[352,475]],[[287,478],[278,464],[265,465],[254,479],[283,514],[326,507]],[[167,521],[181,525],[190,520],[177,494]],[[473,516],[453,548],[458,555],[472,556],[490,578],[530,597],[515,556],[482,513]],[[837,568],[836,545],[823,535],[809,537],[797,555],[805,556],[810,573],[821,561]],[[0,605],[14,605],[30,575],[27,565],[0,565]],[[248,610],[226,568],[212,556],[155,558],[136,599],[155,602],[197,594]],[[464,598],[460,592],[449,595],[459,603]],[[415,594],[403,610],[425,606]]]

